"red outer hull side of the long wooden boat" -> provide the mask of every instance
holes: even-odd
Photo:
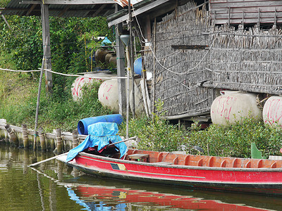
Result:
[[[79,153],[68,165],[98,177],[216,191],[282,195],[281,168],[230,168],[136,162]]]

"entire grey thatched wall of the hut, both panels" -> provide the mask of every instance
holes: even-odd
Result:
[[[153,91],[164,101],[166,117],[209,112],[215,88],[281,94],[281,34],[276,25],[270,30],[215,25],[205,6],[192,1],[166,15],[157,23],[152,51],[145,54],[146,69],[156,72]]]

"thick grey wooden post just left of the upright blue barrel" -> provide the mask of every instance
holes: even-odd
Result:
[[[116,4],[115,11],[118,12],[118,4]],[[120,39],[120,33],[123,30],[122,24],[116,26],[116,68],[118,77],[125,77],[125,54],[124,47]],[[118,79],[118,112],[120,115],[126,113],[126,91],[125,79]]]

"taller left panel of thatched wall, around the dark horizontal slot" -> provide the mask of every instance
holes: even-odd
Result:
[[[214,89],[200,87],[197,84],[210,79],[211,72],[205,70],[201,61],[207,50],[173,49],[172,45],[209,45],[209,15],[204,9],[199,11],[196,4],[178,7],[157,23],[154,67],[152,52],[145,55],[146,68],[156,71],[156,98],[164,101],[164,112],[169,118],[188,117],[209,112],[215,98]],[[152,29],[154,32],[154,29]],[[165,68],[164,68],[165,67]],[[153,82],[154,83],[154,82]]]

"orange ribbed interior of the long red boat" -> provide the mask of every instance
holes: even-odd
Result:
[[[115,147],[105,148],[97,152],[89,148],[86,153],[102,155],[109,158],[120,158],[120,153]],[[134,160],[137,162],[149,162],[156,165],[188,165],[200,167],[226,167],[226,168],[281,168],[282,160],[252,159],[252,158],[229,158],[207,155],[187,155],[181,153],[141,151],[128,149],[123,160]]]

